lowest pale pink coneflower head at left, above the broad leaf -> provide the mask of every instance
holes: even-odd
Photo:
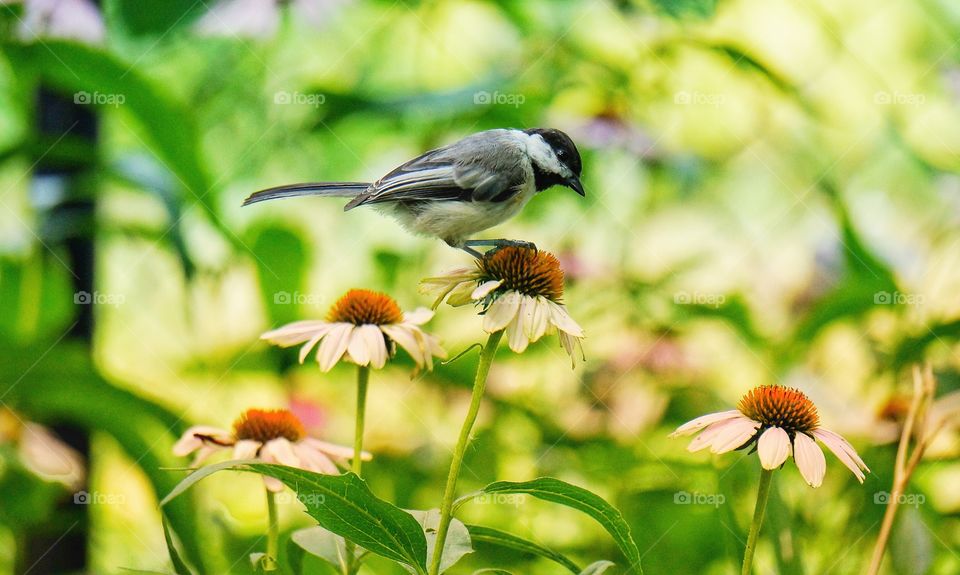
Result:
[[[307,437],[303,424],[287,409],[248,409],[230,431],[197,425],[188,429],[173,446],[173,454],[178,457],[195,452],[193,466],[225,450],[233,451],[233,459],[258,459],[327,475],[340,474],[334,460],[353,457],[349,447]],[[362,458],[369,460],[371,456],[364,452]],[[263,480],[270,491],[283,490],[279,480],[272,477]]]

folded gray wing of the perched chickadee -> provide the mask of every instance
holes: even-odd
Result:
[[[524,182],[523,151],[515,140],[470,136],[399,166],[347,204],[398,201],[503,201]],[[496,149],[498,153],[491,154]]]

